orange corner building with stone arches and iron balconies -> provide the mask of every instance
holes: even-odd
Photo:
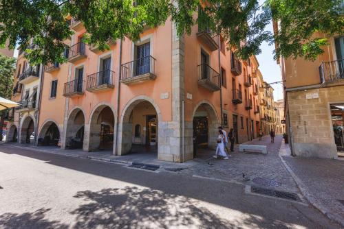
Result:
[[[166,21],[145,29],[138,42],[111,41],[100,51],[83,43],[83,23],[70,24],[75,34],[66,40],[66,63],[36,67],[32,75],[19,56],[15,78],[22,86],[13,100],[25,108],[14,112],[9,141],[16,140],[16,128],[21,143],[34,136],[37,145],[153,152],[183,162],[198,148],[214,149],[220,125],[235,130],[237,143],[257,137],[259,63],[254,56],[237,59],[221,36],[195,25],[190,36],[179,37]]]

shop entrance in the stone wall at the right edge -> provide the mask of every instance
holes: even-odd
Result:
[[[344,156],[344,104],[332,104],[331,120],[338,156]]]

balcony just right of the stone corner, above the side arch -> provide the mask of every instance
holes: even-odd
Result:
[[[208,89],[209,91],[219,91],[220,76],[217,71],[212,69],[208,64],[200,64],[197,66],[198,85]]]

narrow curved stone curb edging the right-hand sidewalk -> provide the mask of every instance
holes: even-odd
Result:
[[[281,149],[281,147],[280,147],[280,149]],[[303,184],[301,179],[294,173],[294,171],[292,171],[292,169],[289,167],[287,162],[282,158],[282,156],[279,155],[279,158],[281,158],[281,161],[282,161],[284,167],[286,167],[286,169],[288,170],[288,172],[292,176],[292,179],[294,180],[294,182],[299,187],[299,189],[300,189],[302,195],[305,197],[305,199],[308,200],[308,202],[310,202],[310,204],[312,204],[312,206],[314,206],[316,209],[320,210],[321,213],[323,213],[323,215],[325,215],[327,218],[329,218],[333,221],[336,221],[339,225],[344,227],[344,219],[340,215],[336,215],[334,213],[331,213],[331,211],[328,208],[326,208],[325,206],[323,206],[323,204],[319,200],[316,200],[316,198],[310,193],[310,191],[308,191],[307,186],[305,184]]]

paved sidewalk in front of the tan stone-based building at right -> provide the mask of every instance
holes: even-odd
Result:
[[[287,156],[288,150],[283,142],[281,159],[303,196],[344,227],[344,160],[292,157]]]

